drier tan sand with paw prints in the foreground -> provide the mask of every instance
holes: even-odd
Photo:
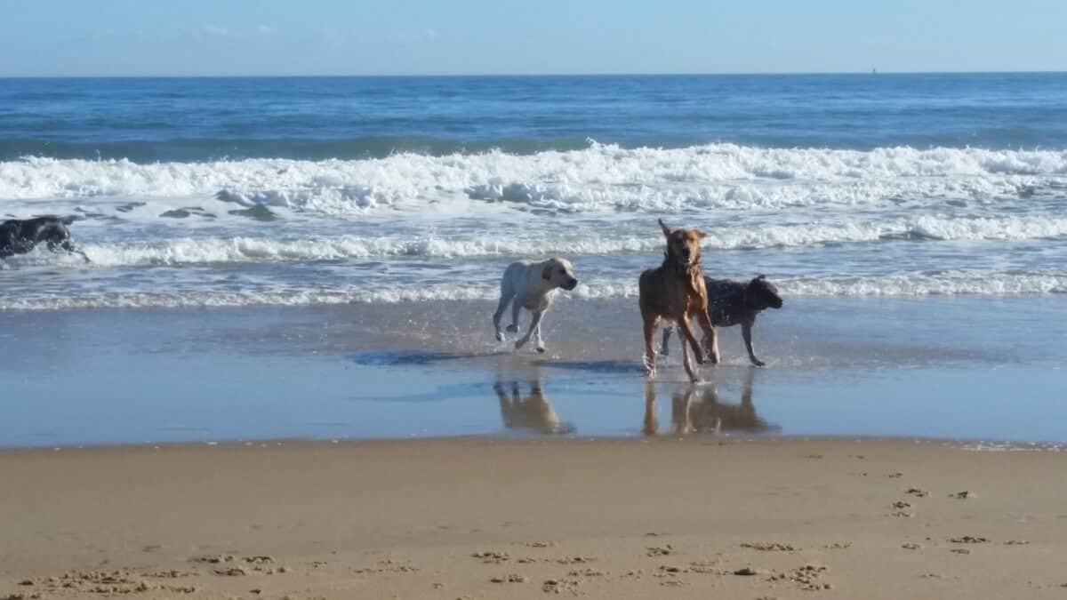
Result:
[[[0,453],[0,598],[1063,598],[1067,454],[459,439]]]

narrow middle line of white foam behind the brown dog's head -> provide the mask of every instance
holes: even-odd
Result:
[[[596,255],[657,252],[663,240],[654,235],[536,232],[501,236],[493,231],[462,235],[309,236],[306,238],[211,237],[171,238],[156,242],[87,243],[82,249],[96,266],[195,265],[292,260],[369,259],[411,256],[452,258],[482,256]],[[887,222],[769,225],[711,230],[705,251],[811,247],[879,242],[896,239],[1026,240],[1067,236],[1067,218],[1006,217],[946,219],[920,217]],[[63,262],[62,256],[35,252],[19,260]],[[80,267],[80,262],[78,266]]]

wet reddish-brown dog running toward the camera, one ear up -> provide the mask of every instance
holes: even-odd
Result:
[[[689,319],[697,318],[713,363],[719,362],[718,345],[715,343],[715,328],[707,317],[707,289],[704,273],[700,269],[700,240],[704,232],[700,230],[671,231],[663,219],[659,227],[667,236],[667,252],[664,263],[655,269],[641,273],[638,282],[638,302],[641,319],[644,320],[644,369],[649,377],[656,375],[656,328],[662,319],[673,322],[682,331],[682,361],[690,381],[697,381],[697,373],[689,362],[689,347],[697,354],[697,362],[704,363],[704,350],[692,334]],[[686,346],[685,342],[688,342]]]

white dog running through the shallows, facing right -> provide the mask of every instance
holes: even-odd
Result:
[[[515,349],[522,348],[530,336],[537,337],[537,351],[544,351],[544,341],[541,340],[541,317],[552,305],[556,297],[556,290],[574,289],[578,285],[578,280],[574,278],[574,267],[567,258],[548,258],[535,263],[532,260],[519,260],[508,265],[500,278],[500,303],[496,306],[493,315],[493,327],[496,329],[497,342],[504,342],[504,333],[500,332],[500,317],[504,311],[511,304],[511,325],[509,332],[519,331],[519,309],[525,307],[534,313],[530,321],[530,329],[526,335],[515,342]]]

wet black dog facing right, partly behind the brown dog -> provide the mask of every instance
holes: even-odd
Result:
[[[740,334],[745,338],[748,359],[755,366],[763,366],[763,361],[755,358],[752,351],[752,326],[755,316],[766,309],[781,309],[782,297],[778,288],[766,278],[760,275],[747,284],[739,281],[704,278],[707,287],[707,316],[715,327],[733,327],[740,325]],[[670,340],[671,328],[664,329],[664,341],[659,345],[659,353],[667,356],[667,341]],[[713,342],[718,345],[718,341]],[[707,342],[704,342],[705,345]],[[714,348],[718,354],[719,349]]]

